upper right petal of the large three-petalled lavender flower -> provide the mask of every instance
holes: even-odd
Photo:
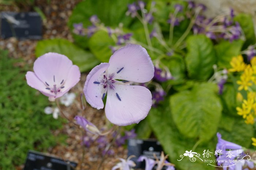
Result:
[[[108,73],[115,79],[145,83],[154,76],[154,65],[147,50],[136,44],[120,48],[109,59]]]

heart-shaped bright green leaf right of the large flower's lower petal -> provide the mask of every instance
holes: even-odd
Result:
[[[191,91],[181,91],[170,97],[173,120],[181,134],[208,141],[217,132],[222,105],[217,86],[196,84]]]

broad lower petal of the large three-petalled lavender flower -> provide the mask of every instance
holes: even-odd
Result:
[[[106,117],[119,126],[139,123],[151,105],[152,95],[146,87],[116,84],[114,89],[108,88]]]

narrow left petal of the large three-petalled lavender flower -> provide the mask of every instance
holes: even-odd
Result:
[[[101,109],[104,107],[102,101],[102,90],[103,84],[98,84],[94,82],[100,82],[103,76],[103,72],[109,67],[109,63],[101,63],[94,67],[93,70],[87,75],[84,84],[84,95],[87,102],[91,107]]]

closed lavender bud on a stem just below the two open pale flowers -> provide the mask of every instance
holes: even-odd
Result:
[[[82,126],[84,130],[87,132],[90,132],[92,134],[100,134],[99,130],[97,127],[89,122],[87,119],[83,118],[82,116],[75,116],[76,123]]]

